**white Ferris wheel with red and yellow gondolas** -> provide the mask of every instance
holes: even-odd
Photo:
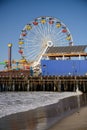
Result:
[[[48,16],[38,17],[21,31],[19,53],[22,58],[37,65],[48,47],[72,45],[72,35],[62,21]]]

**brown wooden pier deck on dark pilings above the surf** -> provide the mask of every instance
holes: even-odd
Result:
[[[0,92],[76,91],[87,92],[87,76],[30,76],[29,70],[0,72]]]

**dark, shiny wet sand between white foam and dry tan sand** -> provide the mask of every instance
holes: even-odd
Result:
[[[75,112],[77,107],[77,97],[74,96],[55,104],[8,115],[0,119],[0,130],[47,130],[58,120]]]

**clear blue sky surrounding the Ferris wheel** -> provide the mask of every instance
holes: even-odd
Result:
[[[0,62],[20,59],[18,40],[24,26],[40,16],[60,19],[70,30],[74,45],[87,45],[87,0],[0,0]]]

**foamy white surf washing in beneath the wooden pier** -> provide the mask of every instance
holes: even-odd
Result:
[[[0,118],[54,104],[60,99],[75,95],[76,92],[1,92]]]

